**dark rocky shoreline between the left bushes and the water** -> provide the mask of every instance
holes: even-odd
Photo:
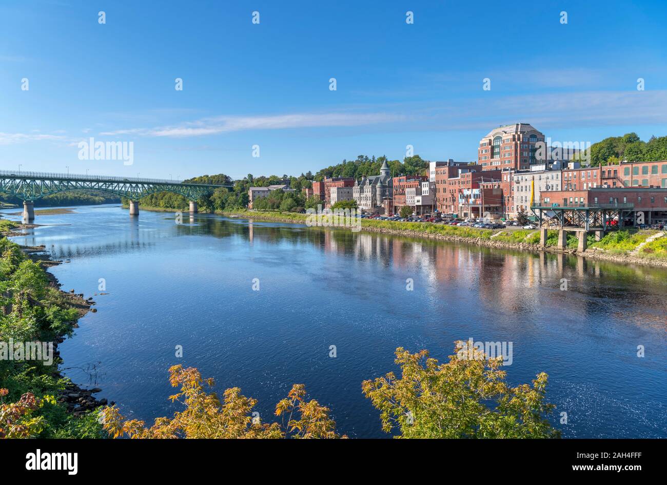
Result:
[[[15,229],[19,230],[28,229],[36,226],[37,225],[35,224],[21,224],[15,227]],[[24,234],[13,230],[3,235],[11,237]],[[59,264],[63,264],[63,261],[53,260],[51,259],[51,256],[45,254],[46,252],[45,246],[20,246],[20,247],[21,251],[23,251],[28,256],[28,258],[30,258],[35,262],[39,262],[41,266],[43,266],[44,268],[51,268],[53,266],[58,266]],[[95,301],[93,301],[92,296],[85,299],[83,293],[75,293],[75,290],[69,290],[69,292],[65,292],[61,289],[61,284],[58,281],[58,279],[55,276],[53,276],[51,272],[47,271],[45,273],[49,278],[49,286],[56,288],[59,292],[61,292],[61,294],[63,294],[63,296],[65,296],[70,308],[75,308],[75,310],[77,310],[79,318],[83,317],[88,312],[93,312],[93,313],[97,312],[97,309],[93,308],[93,306],[95,305]],[[73,324],[73,328],[78,328],[78,327],[79,325],[77,323]],[[54,358],[60,357],[58,345],[62,344],[63,342],[65,342],[64,334],[61,334],[55,338],[55,341],[53,342]],[[54,378],[67,379],[65,378],[65,376],[61,374],[60,370],[54,372],[52,375]],[[113,404],[115,404],[115,402],[113,401],[109,403],[105,398],[97,399],[95,398],[95,396],[93,396],[93,394],[97,394],[99,392],[102,392],[100,388],[95,387],[91,389],[86,389],[69,380],[69,382],[65,384],[65,389],[59,393],[56,400],[65,405],[65,407],[67,408],[67,412],[73,414],[73,416],[80,416],[81,414],[87,411],[94,410],[96,408],[100,408],[103,406],[113,406]]]

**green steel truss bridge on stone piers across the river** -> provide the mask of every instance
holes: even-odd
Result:
[[[129,214],[139,215],[139,199],[156,192],[173,192],[187,197],[190,212],[197,212],[197,200],[213,193],[219,187],[231,185],[206,185],[183,183],[179,180],[108,177],[105,175],[76,175],[71,173],[43,173],[31,171],[0,170],[0,192],[23,199],[23,219],[35,219],[34,201],[58,192],[69,190],[99,190],[115,193],[129,199]]]

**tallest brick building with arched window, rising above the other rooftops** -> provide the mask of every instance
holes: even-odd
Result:
[[[538,143],[544,134],[528,123],[500,126],[480,140],[478,163],[482,170],[528,170],[538,163]]]

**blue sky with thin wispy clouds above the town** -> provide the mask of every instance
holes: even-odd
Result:
[[[666,24],[662,0],[5,0],[0,168],[298,175],[406,145],[472,161],[515,122],[559,141],[667,135]],[[80,160],[89,137],[132,141],[133,164]]]

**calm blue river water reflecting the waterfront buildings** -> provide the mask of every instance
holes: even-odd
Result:
[[[549,374],[564,436],[667,436],[664,270],[108,205],[36,217],[13,239],[70,260],[50,270],[63,290],[93,296],[105,279],[61,356],[125,416],[171,415],[167,369],[183,364],[257,398],[263,420],[304,383],[340,432],[383,437],[362,380],[396,370],[398,346],[444,360],[472,337],[513,342],[512,385]]]

